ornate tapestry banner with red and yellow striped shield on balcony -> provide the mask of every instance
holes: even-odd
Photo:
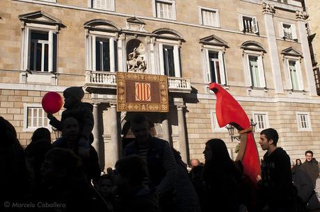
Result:
[[[117,72],[117,111],[169,111],[166,75]]]

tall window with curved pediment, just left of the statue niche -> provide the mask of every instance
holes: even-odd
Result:
[[[86,28],[87,70],[116,72],[118,70],[118,26],[104,19],[93,19]]]

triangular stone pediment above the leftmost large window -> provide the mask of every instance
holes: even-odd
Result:
[[[26,23],[35,23],[56,26],[57,30],[65,27],[61,20],[42,11],[19,15],[19,19],[23,22],[24,26]]]

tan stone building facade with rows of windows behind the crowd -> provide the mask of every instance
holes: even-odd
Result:
[[[307,149],[320,156],[320,98],[301,1],[3,0],[0,17],[0,115],[24,146],[34,129],[49,127],[42,96],[83,86],[94,106],[94,145],[102,167],[112,167],[133,140],[130,114],[116,111],[115,72],[140,69],[168,75],[169,113],[147,115],[154,136],[184,161],[203,160],[209,138],[225,140],[234,155],[210,82],[257,122],[256,141],[273,127],[292,159]],[[134,52],[142,66],[131,64]]]

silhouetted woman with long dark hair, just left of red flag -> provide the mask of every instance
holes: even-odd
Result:
[[[211,139],[206,143],[205,168],[202,172],[202,211],[238,212],[241,172],[227,152],[225,142]]]

